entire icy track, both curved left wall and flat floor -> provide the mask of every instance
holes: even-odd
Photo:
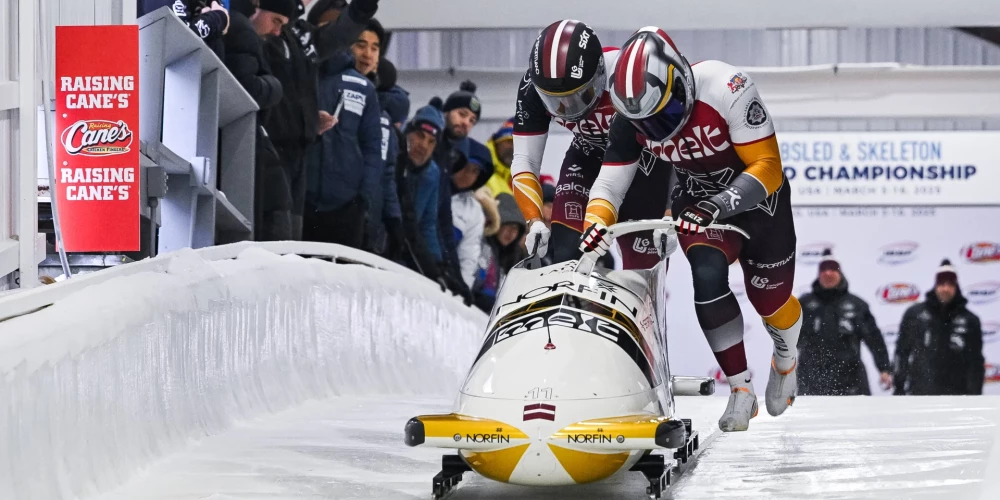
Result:
[[[405,447],[403,425],[450,409],[486,321],[394,264],[301,243],[119,266],[5,297],[10,314],[2,500],[430,498],[443,451]],[[725,402],[678,399],[704,451],[666,498],[1000,498],[998,397],[804,397],[723,435]],[[641,499],[645,485],[468,473],[450,498]]]

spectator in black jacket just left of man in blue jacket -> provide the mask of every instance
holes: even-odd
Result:
[[[333,117],[319,107],[319,64],[354,43],[375,15],[378,0],[354,0],[350,6],[344,0],[318,0],[308,20],[303,13],[311,0],[296,2],[298,8],[291,22],[278,36],[265,37],[264,55],[285,89],[284,98],[273,109],[267,132],[281,155],[291,185],[292,236],[301,239],[306,149],[333,127]]]

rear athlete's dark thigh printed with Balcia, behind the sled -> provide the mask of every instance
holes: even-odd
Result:
[[[580,258],[580,235],[587,213],[590,188],[601,171],[603,152],[590,148],[586,154],[576,141],[566,150],[559,170],[556,198],[552,202],[552,236],[549,252],[552,262]]]

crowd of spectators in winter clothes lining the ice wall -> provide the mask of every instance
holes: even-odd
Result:
[[[404,264],[490,311],[526,256],[511,190],[513,119],[481,143],[476,85],[411,103],[383,55],[378,0],[138,0],[168,6],[260,107],[254,233]],[[415,108],[411,114],[411,108]],[[544,182],[546,223],[555,197]]]

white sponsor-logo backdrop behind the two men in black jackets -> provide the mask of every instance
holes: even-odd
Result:
[[[794,199],[794,198],[793,198]],[[843,269],[849,291],[871,307],[882,331],[890,361],[900,320],[906,309],[924,300],[934,285],[942,259],[958,272],[968,308],[983,323],[986,358],[984,393],[1000,394],[1000,208],[998,207],[799,207],[795,294],[810,291],[820,255],[831,248]],[[739,264],[730,266],[730,284],[745,320],[745,342],[757,394],[767,385],[772,342],[760,316],[746,298]],[[691,268],[680,252],[667,273],[667,332],[670,368],[676,375],[716,377],[718,393],[728,395],[721,374],[694,312]],[[863,345],[863,344],[862,344]],[[888,395],[878,385],[878,372],[867,348],[862,359],[873,395]],[[763,401],[761,402],[763,404]]]

